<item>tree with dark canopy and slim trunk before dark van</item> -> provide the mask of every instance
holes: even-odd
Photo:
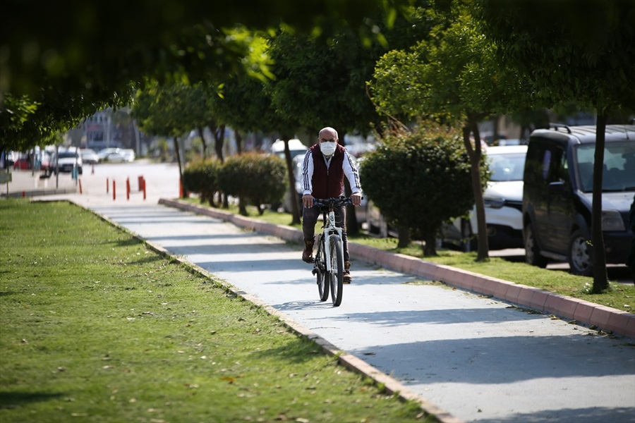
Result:
[[[535,102],[574,101],[597,113],[591,242],[593,293],[601,293],[608,288],[601,223],[605,127],[610,111],[635,109],[635,4],[495,0],[481,6],[473,13],[500,46],[499,60],[526,75]]]

